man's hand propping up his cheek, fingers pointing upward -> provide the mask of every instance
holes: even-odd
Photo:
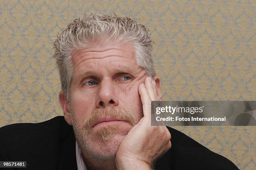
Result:
[[[119,170],[151,169],[154,160],[171,148],[171,134],[166,126],[151,126],[151,101],[160,100],[156,95],[156,82],[146,77],[145,82],[139,85],[138,92],[144,117],[118,148],[115,159]]]

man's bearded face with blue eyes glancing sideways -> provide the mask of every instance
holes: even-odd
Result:
[[[143,117],[138,86],[146,71],[137,65],[134,48],[127,44],[77,50],[72,62],[68,110],[77,142],[90,155],[113,158]]]

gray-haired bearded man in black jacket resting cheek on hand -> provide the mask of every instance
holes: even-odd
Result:
[[[0,160],[31,169],[237,169],[183,133],[151,126],[151,101],[161,100],[153,43],[126,16],[69,23],[54,42],[64,118],[1,128]]]

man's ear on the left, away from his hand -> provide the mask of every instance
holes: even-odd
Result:
[[[72,125],[72,113],[69,112],[69,101],[67,100],[66,93],[64,91],[59,92],[59,103],[63,110],[63,115],[66,122]]]

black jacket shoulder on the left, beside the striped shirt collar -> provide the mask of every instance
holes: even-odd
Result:
[[[57,169],[59,154],[65,151],[61,147],[67,139],[73,154],[73,129],[63,116],[40,123],[7,125],[0,128],[0,161],[26,160],[31,167]]]

